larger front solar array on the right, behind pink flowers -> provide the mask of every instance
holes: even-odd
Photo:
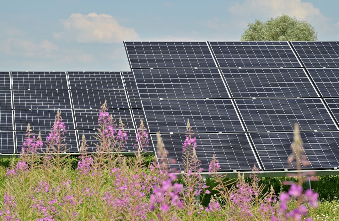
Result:
[[[214,154],[221,171],[296,169],[296,122],[304,168],[339,167],[338,42],[124,44],[152,144],[160,132],[172,171],[185,170],[187,119],[205,169]]]

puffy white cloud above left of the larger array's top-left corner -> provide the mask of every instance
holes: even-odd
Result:
[[[62,19],[61,23],[64,31],[53,33],[55,39],[74,38],[79,43],[122,43],[139,39],[134,28],[121,26],[107,14],[72,14],[68,19]]]

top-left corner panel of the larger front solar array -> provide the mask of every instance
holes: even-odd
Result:
[[[124,42],[131,68],[217,68],[206,42]]]

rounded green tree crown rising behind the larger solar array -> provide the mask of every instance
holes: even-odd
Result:
[[[318,33],[307,21],[299,21],[288,15],[255,20],[244,29],[241,41],[317,41]]]

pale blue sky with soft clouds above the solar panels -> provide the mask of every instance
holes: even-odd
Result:
[[[0,71],[130,71],[123,41],[239,41],[256,19],[308,21],[339,41],[339,0],[11,0]]]

